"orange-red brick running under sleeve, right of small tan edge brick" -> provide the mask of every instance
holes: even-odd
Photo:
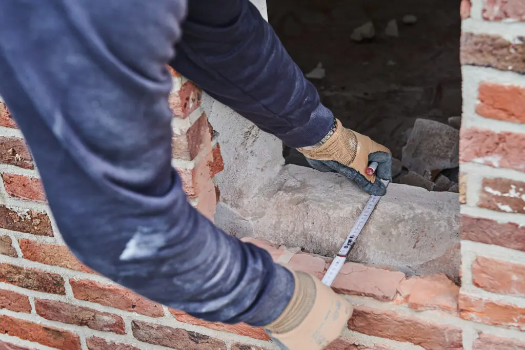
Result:
[[[39,243],[30,239],[19,239],[18,245],[22,249],[24,259],[71,270],[93,272],[82,264],[66,246]]]

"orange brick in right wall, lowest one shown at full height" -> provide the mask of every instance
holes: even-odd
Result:
[[[525,330],[525,309],[516,305],[460,292],[459,310],[461,318],[468,321]]]

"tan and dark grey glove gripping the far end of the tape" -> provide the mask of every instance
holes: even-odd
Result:
[[[321,144],[297,149],[304,154],[311,167],[321,172],[338,172],[353,181],[367,193],[383,196],[386,186],[379,178],[392,181],[392,155],[385,146],[370,137],[346,129],[335,120],[335,130]],[[377,162],[375,175],[367,175],[370,162]]]

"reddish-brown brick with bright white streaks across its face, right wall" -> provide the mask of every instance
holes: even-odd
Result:
[[[505,213],[525,213],[525,183],[506,178],[484,178],[478,207]]]

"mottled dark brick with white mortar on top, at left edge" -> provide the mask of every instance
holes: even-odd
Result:
[[[0,205],[0,228],[36,236],[53,237],[49,216],[35,210],[13,210]]]

